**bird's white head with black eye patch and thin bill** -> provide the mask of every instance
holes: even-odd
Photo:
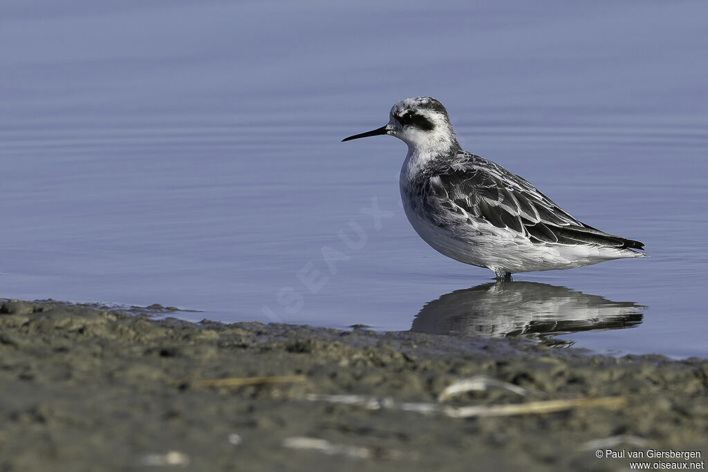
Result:
[[[447,110],[433,97],[400,100],[391,108],[387,125],[370,132],[355,134],[342,141],[378,134],[389,134],[401,139],[408,144],[411,154],[425,153],[436,156],[448,154],[459,147]]]

